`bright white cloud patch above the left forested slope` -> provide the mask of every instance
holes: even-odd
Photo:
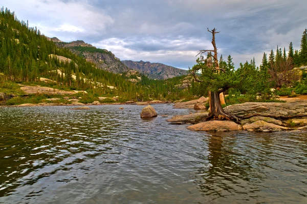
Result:
[[[45,35],[57,35],[61,40],[70,39],[68,33],[79,33],[78,37],[99,35],[114,24],[114,19],[105,10],[87,1],[13,0],[6,6],[13,8],[17,17],[29,19],[31,27],[37,26]]]

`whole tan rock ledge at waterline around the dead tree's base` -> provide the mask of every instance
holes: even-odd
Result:
[[[225,112],[245,116],[249,114],[265,114],[277,116],[295,116],[307,114],[307,101],[292,101],[290,103],[244,103],[226,107]],[[208,112],[198,112],[190,115],[176,115],[167,121],[170,124],[196,124],[188,127],[195,131],[234,131],[247,130],[257,132],[275,132],[287,130],[306,130],[307,116],[292,119],[275,119],[273,117],[254,116],[240,121],[242,126],[231,121],[201,122]],[[201,123],[200,123],[201,122]],[[239,126],[239,127],[238,127]]]

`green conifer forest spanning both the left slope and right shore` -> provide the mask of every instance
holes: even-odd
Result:
[[[78,49],[84,51],[95,48]],[[72,53],[68,48],[57,47],[36,27],[30,28],[28,22],[19,21],[15,13],[7,8],[2,8],[0,14],[0,53],[0,92],[16,93],[19,97],[18,100],[11,99],[9,105],[25,103],[20,97],[29,97],[13,90],[18,89],[17,84],[83,90],[89,93],[85,96],[85,103],[92,103],[98,96],[119,96],[120,101],[189,100],[208,96],[209,91],[226,85],[229,86],[224,92],[228,95],[225,98],[227,105],[246,101],[271,101],[278,95],[307,94],[306,71],[293,69],[307,65],[306,29],[303,31],[300,50],[294,50],[292,42],[288,52],[286,48],[277,46],[275,52],[272,49],[269,54],[264,53],[259,67],[256,67],[255,59],[235,68],[231,55],[226,60],[221,55],[218,62],[214,62],[211,52],[207,56],[201,55],[193,69],[199,71],[202,83],[187,76],[153,80],[141,74],[138,75],[141,80],[132,82],[129,79],[136,78],[135,75],[114,74],[97,69],[95,64],[86,62],[82,56]],[[63,62],[57,56],[71,60]],[[211,73],[210,69],[215,67],[223,70],[223,73]],[[41,77],[50,80],[43,82]],[[188,86],[181,88],[183,81],[187,80]],[[107,86],[115,88],[109,89]],[[39,97],[43,99],[52,96]]]

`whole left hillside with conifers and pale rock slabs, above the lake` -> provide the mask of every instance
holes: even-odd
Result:
[[[178,100],[190,96],[188,88],[179,86],[183,77],[168,80],[149,79],[128,69],[107,50],[97,49],[80,40],[63,43],[57,38],[41,35],[36,27],[29,28],[27,25],[24,21],[19,21],[10,10],[1,9],[2,105],[47,103],[51,97],[59,98],[61,103],[70,103],[65,99],[67,97],[81,97],[82,103],[93,103],[99,100],[99,97],[117,96],[118,101],[142,101]],[[71,48],[74,48],[75,53]],[[84,58],[84,52],[88,51],[93,55],[96,53],[96,56],[105,57],[101,59],[101,65],[106,64],[107,57],[115,60],[122,66],[123,69],[118,71],[122,73],[115,74],[106,71],[107,69],[100,69],[95,60]],[[70,96],[65,96],[68,93]]]

